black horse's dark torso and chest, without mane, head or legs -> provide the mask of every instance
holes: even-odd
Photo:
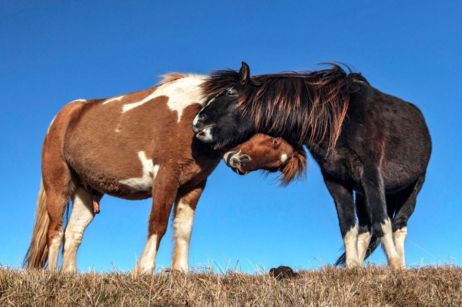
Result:
[[[327,159],[322,144],[313,150],[323,174],[358,186],[364,165],[382,173],[387,191],[398,191],[422,175],[431,154],[431,138],[422,112],[412,103],[354,81],[336,148]]]

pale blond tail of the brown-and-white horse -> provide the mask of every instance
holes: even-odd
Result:
[[[22,266],[26,269],[44,268],[48,260],[47,230],[50,218],[47,210],[47,195],[40,181],[37,196],[36,223],[32,231],[32,242],[26,253]]]

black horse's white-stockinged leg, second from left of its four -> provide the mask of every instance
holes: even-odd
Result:
[[[358,217],[358,261],[362,266],[372,238],[372,222],[366,209],[364,195],[356,193],[355,199],[356,216]]]

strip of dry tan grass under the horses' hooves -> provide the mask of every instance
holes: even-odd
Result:
[[[460,307],[462,268],[326,267],[281,281],[232,272],[133,276],[0,269],[0,306]]]

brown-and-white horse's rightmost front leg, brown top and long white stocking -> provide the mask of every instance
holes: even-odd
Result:
[[[175,201],[173,219],[173,247],[172,269],[188,272],[188,253],[191,232],[193,231],[194,212],[199,197],[205,188],[205,180],[196,188],[178,194]]]

